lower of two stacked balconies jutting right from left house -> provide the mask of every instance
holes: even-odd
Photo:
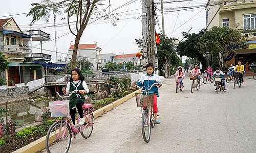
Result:
[[[26,58],[25,62],[33,62],[33,61],[45,62],[45,61],[52,60],[51,55],[43,54],[43,53],[33,53],[33,54],[24,55],[24,58]]]

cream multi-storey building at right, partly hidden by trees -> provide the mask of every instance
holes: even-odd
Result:
[[[206,29],[214,26],[236,29],[247,38],[249,48],[238,49],[227,64],[237,64],[240,60],[245,71],[256,69],[256,1],[208,0],[205,10]]]

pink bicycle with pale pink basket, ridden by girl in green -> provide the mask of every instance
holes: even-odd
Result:
[[[91,136],[93,131],[94,108],[92,104],[84,104],[83,117],[86,120],[83,125],[79,125],[79,115],[77,124],[73,124],[69,114],[69,100],[67,99],[77,90],[72,91],[68,96],[60,96],[62,101],[49,101],[51,117],[62,117],[57,119],[49,128],[46,135],[46,150],[47,152],[68,152],[71,141],[76,138],[76,134],[81,132],[83,138],[87,139]]]

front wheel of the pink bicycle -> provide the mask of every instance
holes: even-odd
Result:
[[[65,121],[54,122],[46,135],[46,150],[50,152],[68,152],[71,144],[71,129]]]

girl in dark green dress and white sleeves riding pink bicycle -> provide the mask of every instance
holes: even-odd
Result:
[[[82,75],[82,72],[79,68],[74,68],[71,70],[71,78],[67,84],[67,89],[65,87],[62,88],[62,91],[66,94],[77,90],[77,94],[72,94],[70,96],[69,101],[69,109],[70,116],[72,118],[73,124],[75,124],[75,116],[76,116],[76,108],[80,115],[79,125],[82,125],[85,121],[83,118],[82,105],[84,104],[84,96],[83,94],[89,92],[89,88],[87,87],[86,81]],[[76,108],[73,108],[76,106]]]

